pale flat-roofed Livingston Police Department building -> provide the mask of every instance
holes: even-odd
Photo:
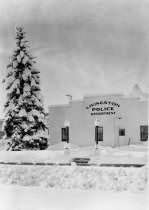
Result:
[[[52,144],[123,146],[148,139],[148,94],[135,85],[130,95],[84,96],[49,106]]]

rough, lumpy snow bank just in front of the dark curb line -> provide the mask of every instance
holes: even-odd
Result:
[[[146,188],[147,167],[0,166],[0,183],[60,189],[138,192]]]

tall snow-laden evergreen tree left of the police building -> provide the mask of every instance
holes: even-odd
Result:
[[[35,57],[29,51],[26,33],[16,28],[15,46],[9,57],[3,130],[6,150],[43,150],[48,146],[43,98]]]

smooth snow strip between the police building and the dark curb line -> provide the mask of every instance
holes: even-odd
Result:
[[[0,161],[3,162],[52,162],[68,163],[75,157],[90,158],[90,163],[96,164],[146,164],[148,152],[139,150],[141,146],[133,150],[127,148],[100,147],[98,155],[95,155],[94,147],[77,148],[70,144],[69,155],[64,155],[64,143],[49,146],[47,150],[38,151],[0,151]]]

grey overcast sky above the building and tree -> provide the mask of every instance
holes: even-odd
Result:
[[[21,25],[46,107],[66,94],[149,92],[148,0],[0,0],[0,77]],[[6,98],[0,82],[0,117]]]

